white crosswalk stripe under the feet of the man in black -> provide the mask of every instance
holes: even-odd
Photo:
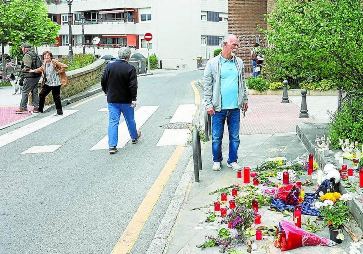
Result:
[[[143,106],[135,111],[136,128],[139,130],[141,126],[155,113],[160,106]],[[107,130],[106,130],[107,131]],[[118,143],[117,148],[124,147],[131,139],[126,122],[123,121],[118,125]],[[101,150],[109,148],[109,135],[106,135],[97,144],[91,147],[90,150]]]

